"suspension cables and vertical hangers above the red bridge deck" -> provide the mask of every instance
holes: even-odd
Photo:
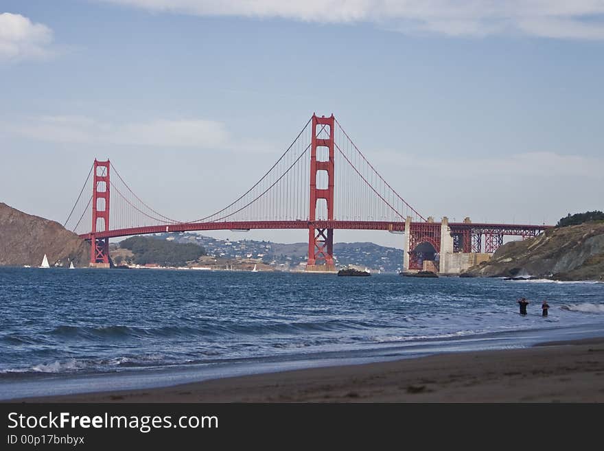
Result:
[[[337,150],[335,157],[333,153],[330,155],[326,152],[325,146],[328,145]],[[316,153],[316,157],[311,157],[311,149]],[[331,158],[334,161],[329,161]],[[316,181],[312,188],[313,196],[318,199],[313,207],[310,207],[311,161],[316,165],[316,176],[312,178]],[[65,227],[80,234],[89,232],[86,221],[83,221],[86,213],[92,212],[91,207],[94,207],[95,211],[104,211],[109,198],[99,194],[96,200],[98,205],[91,205],[93,196],[86,199],[84,191],[87,187],[92,188],[93,180],[99,184],[108,183],[107,189],[111,192],[111,222],[106,222],[111,224],[112,231],[134,231],[141,227],[182,224],[187,224],[187,229],[194,229],[195,224],[236,224],[254,221],[269,224],[271,221],[308,221],[310,218],[317,221],[400,223],[404,222],[407,216],[413,216],[415,220],[426,220],[385,181],[333,117],[319,118],[316,122],[313,122],[311,117],[279,159],[244,194],[226,207],[194,221],[176,220],[150,207],[126,183],[113,163],[99,162],[99,174],[91,177],[94,167],[91,167],[75,205],[65,221]],[[329,169],[329,174],[328,167],[332,168]],[[106,182],[102,181],[101,178],[106,175],[104,171],[110,168],[111,183],[108,182],[108,177]],[[99,187],[95,189],[102,193]],[[333,203],[332,207],[329,207],[330,218],[327,217],[327,201],[323,193],[325,196],[329,193],[329,202]],[[310,208],[315,209],[312,215]],[[77,222],[75,218],[78,218]],[[96,224],[97,233],[105,231],[103,224],[104,221]]]

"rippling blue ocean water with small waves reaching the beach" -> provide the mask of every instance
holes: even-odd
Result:
[[[593,282],[0,268],[0,399],[603,335]]]

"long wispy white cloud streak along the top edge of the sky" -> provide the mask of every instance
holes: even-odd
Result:
[[[604,39],[601,0],[97,0],[153,12],[377,23],[404,33]]]

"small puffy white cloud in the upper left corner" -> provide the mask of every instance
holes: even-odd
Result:
[[[52,30],[21,14],[0,14],[0,61],[48,58]]]

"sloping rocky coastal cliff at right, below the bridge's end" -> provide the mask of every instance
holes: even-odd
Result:
[[[604,222],[556,227],[509,242],[463,275],[604,281]]]

